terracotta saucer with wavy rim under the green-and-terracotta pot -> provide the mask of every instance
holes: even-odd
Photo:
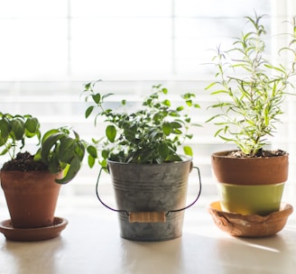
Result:
[[[222,231],[239,237],[266,237],[282,230],[293,207],[282,203],[279,211],[270,215],[240,215],[221,210],[220,202],[211,203],[208,212]]]

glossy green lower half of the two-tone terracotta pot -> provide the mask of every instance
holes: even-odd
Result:
[[[221,209],[242,215],[269,215],[280,209],[284,183],[241,186],[217,183]]]

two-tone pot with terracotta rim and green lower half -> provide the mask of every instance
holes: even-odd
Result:
[[[288,178],[288,155],[269,158],[227,157],[212,154],[221,208],[242,215],[269,215],[280,209]]]

